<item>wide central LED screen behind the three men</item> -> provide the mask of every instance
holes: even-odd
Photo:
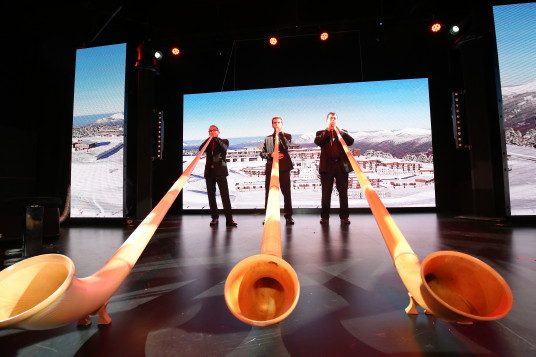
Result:
[[[229,140],[227,165],[234,209],[264,209],[265,164],[260,157],[271,120],[292,135],[294,208],[319,208],[320,147],[315,133],[336,112],[355,139],[350,147],[387,207],[435,207],[428,80],[406,79],[188,94],[184,96],[183,165],[190,164],[214,124]],[[209,209],[201,159],[183,189],[183,209]],[[352,173],[349,206],[368,207]],[[281,200],[281,205],[283,205]],[[339,207],[337,190],[332,207]],[[221,201],[217,198],[219,207]]]

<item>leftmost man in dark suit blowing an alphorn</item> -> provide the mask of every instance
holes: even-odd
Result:
[[[216,125],[211,125],[208,128],[208,134],[212,140],[206,149],[204,176],[207,184],[208,205],[210,206],[210,215],[212,216],[210,225],[215,226],[218,224],[219,212],[216,203],[216,184],[218,184],[223,212],[225,213],[225,225],[227,227],[236,227],[238,224],[233,221],[231,200],[229,199],[229,186],[227,185],[229,172],[227,171],[227,162],[225,161],[229,140],[219,137],[220,131]],[[207,140],[201,144],[199,150],[201,150]]]

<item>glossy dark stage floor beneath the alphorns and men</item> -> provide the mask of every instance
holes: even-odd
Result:
[[[210,227],[207,215],[167,217],[110,300],[112,324],[71,323],[43,331],[0,330],[6,356],[535,356],[536,228],[496,221],[392,214],[421,261],[438,250],[477,257],[514,294],[510,314],[472,325],[406,315],[408,295],[372,214],[350,226],[315,214],[282,224],[283,258],[296,270],[298,305],[278,325],[237,320],[223,297],[227,275],[260,252],[260,214],[237,228]],[[43,252],[69,256],[76,276],[99,270],[135,227],[62,227]],[[0,246],[1,250],[10,248]],[[1,256],[1,255],[0,255]]]

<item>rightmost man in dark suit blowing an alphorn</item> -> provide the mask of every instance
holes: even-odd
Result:
[[[316,132],[315,144],[320,146],[320,182],[322,184],[322,210],[320,223],[329,223],[329,211],[331,208],[331,193],[333,192],[333,180],[339,191],[340,211],[339,217],[342,224],[350,224],[348,212],[348,173],[353,171],[350,160],[346,156],[341,142],[335,131],[337,128],[348,146],[354,143],[348,132],[341,130],[337,125],[337,114],[329,113],[326,118],[326,129]]]

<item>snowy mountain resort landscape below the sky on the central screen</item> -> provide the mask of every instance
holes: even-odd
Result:
[[[320,148],[314,144],[315,134],[316,131],[292,134],[293,149],[289,153],[295,166],[291,176],[295,208],[320,207]],[[376,192],[387,207],[435,207],[432,137],[429,129],[350,132],[350,135],[355,139],[350,147],[354,157],[365,165],[363,171],[374,182]],[[184,169],[198,152],[203,140],[185,143]],[[264,208],[266,161],[259,156],[263,142],[264,136],[229,138],[227,165],[233,208]],[[201,159],[184,188],[185,209],[208,209],[204,164],[204,159]],[[354,181],[348,191],[350,207],[368,207],[353,173],[350,174],[350,180]],[[332,196],[332,207],[339,207],[336,190]]]

